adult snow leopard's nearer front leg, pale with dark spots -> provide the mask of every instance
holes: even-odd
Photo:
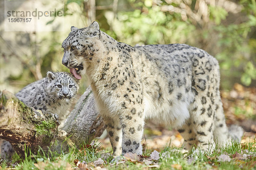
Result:
[[[125,108],[120,115],[122,125],[122,154],[132,152],[142,155],[141,139],[144,127],[143,108]]]

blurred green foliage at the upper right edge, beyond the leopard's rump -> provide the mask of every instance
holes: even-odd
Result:
[[[255,39],[250,36],[250,31],[256,26],[256,6],[255,0],[244,1],[243,11],[247,13],[247,20],[240,24],[220,25],[214,29],[218,32],[218,46],[221,51],[216,55],[220,61],[221,69],[229,70],[228,76],[234,77],[232,72],[240,72],[241,82],[244,85],[250,85],[252,79],[256,79],[255,69]],[[248,4],[247,4],[248,3]],[[249,42],[249,43],[248,43]]]

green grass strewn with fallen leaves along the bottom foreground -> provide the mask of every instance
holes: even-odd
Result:
[[[232,142],[228,147],[220,149],[215,148],[211,153],[199,151],[195,153],[190,151],[184,153],[182,148],[166,146],[158,150],[160,159],[151,160],[152,150],[146,150],[140,159],[130,160],[127,157],[122,158],[117,163],[112,163],[113,156],[103,159],[104,162],[99,166],[110,170],[255,170],[256,169],[256,142],[239,144]],[[193,154],[195,153],[195,154]],[[12,163],[15,170],[72,170],[79,169],[74,162],[87,164],[88,169],[94,169],[97,166],[93,161],[104,156],[102,147],[99,144],[84,144],[81,149],[70,148],[67,153],[51,153],[49,156],[44,152],[38,151],[32,154],[27,150],[25,159],[20,159],[17,155],[13,156]],[[221,160],[224,156],[229,161]],[[244,156],[244,157],[243,157]],[[149,161],[149,162],[148,162]],[[1,169],[9,169],[9,163],[2,161]],[[118,164],[118,165],[116,165]]]

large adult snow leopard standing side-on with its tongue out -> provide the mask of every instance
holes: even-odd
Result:
[[[62,48],[62,64],[74,77],[87,75],[114,156],[142,154],[148,118],[177,129],[187,150],[241,140],[242,128],[226,125],[218,61],[206,51],[186,44],[132,47],[96,21],[72,26]]]

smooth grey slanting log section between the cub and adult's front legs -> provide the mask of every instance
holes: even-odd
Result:
[[[92,89],[89,87],[79,98],[75,108],[67,117],[62,128],[70,136],[70,140],[79,146],[85,139],[101,136],[105,130],[105,124],[96,111]]]

